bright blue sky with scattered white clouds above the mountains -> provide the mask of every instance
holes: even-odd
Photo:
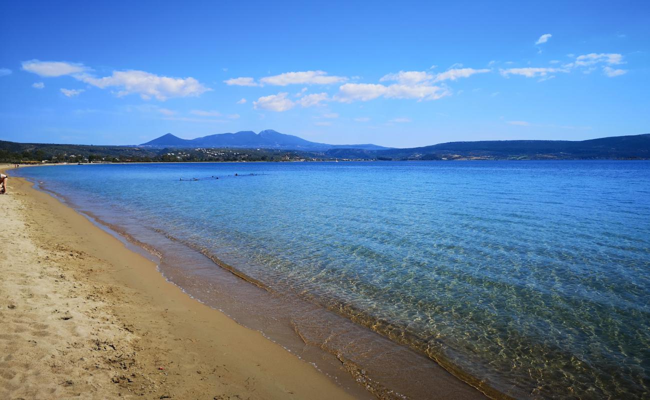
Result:
[[[650,132],[648,1],[350,3],[3,1],[0,139]]]

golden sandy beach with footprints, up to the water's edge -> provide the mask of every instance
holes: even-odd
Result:
[[[358,396],[191,299],[155,263],[27,181],[10,177],[8,189],[0,398]]]

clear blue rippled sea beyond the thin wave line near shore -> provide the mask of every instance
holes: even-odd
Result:
[[[647,396],[649,162],[71,165],[19,174],[507,395]]]

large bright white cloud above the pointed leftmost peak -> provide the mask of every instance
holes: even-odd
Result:
[[[192,77],[166,77],[137,70],[113,71],[112,75],[103,78],[85,74],[75,77],[98,88],[120,87],[122,90],[118,92],[118,97],[140,94],[144,100],[152,97],[157,100],[167,100],[174,97],[199,96],[203,92],[212,90]]]

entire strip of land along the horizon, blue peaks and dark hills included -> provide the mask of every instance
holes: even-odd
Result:
[[[246,149],[243,152],[240,149]],[[18,143],[0,140],[0,162],[296,161],[461,159],[650,159],[650,134],[590,140],[482,140],[416,148],[309,142],[275,131],[226,133],[186,140],[168,134],[141,146]]]

